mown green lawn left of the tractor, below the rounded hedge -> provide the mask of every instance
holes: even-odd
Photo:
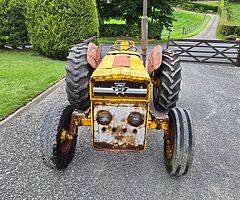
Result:
[[[0,120],[63,78],[65,65],[32,52],[0,50]]]

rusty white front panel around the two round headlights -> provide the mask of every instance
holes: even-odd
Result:
[[[95,103],[93,145],[97,149],[143,150],[145,147],[147,104],[113,104]],[[100,110],[109,111],[113,118],[109,125],[97,122]],[[139,127],[131,126],[127,118],[131,112],[139,112],[144,116],[144,123]]]

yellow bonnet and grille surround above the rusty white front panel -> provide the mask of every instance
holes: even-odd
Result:
[[[116,43],[121,42],[123,46],[120,48],[126,48],[126,45],[129,41],[117,41]],[[130,41],[131,45],[135,45],[134,42]],[[128,46],[129,47],[129,46]],[[126,67],[119,67],[113,66],[114,59],[117,56],[127,55],[130,58],[130,66]],[[139,100],[138,98],[116,98],[114,101],[116,102],[150,102],[151,99],[151,78],[144,67],[141,56],[138,52],[135,51],[110,51],[108,54],[103,58],[101,63],[99,64],[98,68],[93,72],[91,81],[90,81],[90,97],[91,102],[96,101],[113,101],[113,98],[104,97],[104,99],[96,99],[93,96],[93,85],[94,81],[133,81],[133,82],[145,82],[148,84],[148,96],[145,100]]]

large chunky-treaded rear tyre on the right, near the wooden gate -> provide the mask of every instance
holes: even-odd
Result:
[[[179,55],[171,50],[163,51],[163,61],[154,77],[158,79],[153,87],[154,107],[167,111],[176,107],[181,86],[181,66]]]

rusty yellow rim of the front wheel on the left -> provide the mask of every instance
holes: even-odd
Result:
[[[66,131],[64,128],[62,129],[60,133],[61,136],[60,148],[64,155],[68,154],[71,151],[75,135],[76,129],[74,130],[74,135],[68,133],[68,131]]]

